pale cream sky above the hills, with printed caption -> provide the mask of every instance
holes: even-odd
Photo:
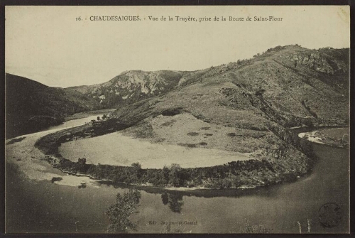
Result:
[[[107,82],[126,70],[200,70],[277,45],[350,46],[349,6],[6,6],[5,14],[6,72],[58,87]],[[75,21],[79,16],[83,21]],[[89,21],[90,16],[142,21]],[[214,16],[219,21],[199,22]],[[247,16],[283,21],[246,21]]]

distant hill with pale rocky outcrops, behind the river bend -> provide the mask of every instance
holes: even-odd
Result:
[[[197,79],[205,70],[195,72],[161,70],[122,72],[109,82],[98,85],[69,87],[97,100],[104,108],[121,108],[143,99],[170,92],[178,86]]]

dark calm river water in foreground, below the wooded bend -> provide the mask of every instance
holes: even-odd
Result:
[[[131,220],[138,222],[137,232],[142,233],[163,232],[166,227],[161,222],[185,221],[195,225],[171,225],[171,230],[240,233],[247,222],[268,232],[298,233],[300,222],[305,233],[307,220],[312,233],[348,232],[349,150],[321,144],[313,147],[318,160],[312,172],[294,183],[246,190],[140,188],[138,214]],[[105,233],[109,225],[105,210],[117,193],[127,190],[124,185],[98,181],[78,188],[28,180],[14,164],[6,164],[6,232]],[[320,207],[327,202],[341,209],[336,227],[324,227],[319,221]]]

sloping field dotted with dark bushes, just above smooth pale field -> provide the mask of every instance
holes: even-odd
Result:
[[[187,148],[213,148],[241,153],[262,148],[263,137],[271,134],[268,131],[241,130],[207,123],[187,113],[173,117],[159,115],[123,132],[153,143],[164,141],[165,144]]]

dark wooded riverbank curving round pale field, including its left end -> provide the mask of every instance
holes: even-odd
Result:
[[[178,163],[163,166],[160,163],[160,168],[151,168],[147,165],[143,167],[139,161],[131,161],[131,166],[93,164],[87,163],[87,158],[78,157],[78,161],[73,161],[58,153],[58,148],[63,142],[99,138],[109,131],[120,131],[129,126],[131,125],[120,124],[119,121],[114,120],[95,122],[48,134],[39,139],[35,146],[46,155],[55,156],[55,160],[48,159],[48,162],[62,171],[85,174],[92,178],[111,180],[114,183],[144,184],[161,188],[255,188],[296,180],[312,167],[313,158],[305,156],[290,144],[282,144],[282,149],[261,150],[254,155],[255,157],[246,160],[236,157],[228,159],[230,161],[217,160],[217,164],[212,166],[208,166],[207,161],[207,166],[193,167],[180,166]],[[188,148],[189,151],[195,149],[197,148]],[[203,150],[203,148],[198,149]],[[116,156],[120,156],[119,153],[120,151]],[[184,154],[179,153],[178,156]]]

